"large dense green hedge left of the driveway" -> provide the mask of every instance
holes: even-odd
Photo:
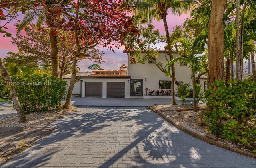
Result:
[[[65,80],[47,74],[24,74],[12,76],[12,81],[25,113],[60,111],[66,94]]]

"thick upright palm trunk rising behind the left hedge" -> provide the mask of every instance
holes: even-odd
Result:
[[[51,43],[51,64],[52,76],[59,76],[59,49],[58,49],[58,33],[54,28],[56,19],[54,14],[46,14],[46,24],[50,28],[50,43]]]

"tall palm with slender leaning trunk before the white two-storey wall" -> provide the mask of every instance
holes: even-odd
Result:
[[[173,14],[182,14],[189,12],[194,6],[196,6],[197,2],[194,0],[130,0],[136,10],[136,16],[138,18],[146,18],[149,22],[152,19],[157,21],[163,20],[164,29],[166,33],[167,39],[167,47],[170,54],[170,60],[173,59],[172,55],[172,47],[170,42],[170,34],[167,25],[167,12],[170,10]],[[174,84],[175,84],[175,69],[174,65],[172,65],[172,105],[176,105],[176,101],[174,98]]]

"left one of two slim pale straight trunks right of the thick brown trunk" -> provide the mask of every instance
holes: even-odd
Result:
[[[236,80],[241,80],[239,10],[240,0],[236,0]]]

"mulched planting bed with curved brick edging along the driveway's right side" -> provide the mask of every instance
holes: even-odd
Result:
[[[152,105],[149,108],[152,109],[152,111],[160,114],[178,129],[192,135],[193,137],[218,147],[225,148],[232,152],[256,158],[256,154],[250,152],[252,148],[246,147],[241,143],[236,143],[221,137],[216,137],[216,140],[208,137],[209,131],[206,126],[198,126],[198,115],[200,110],[198,110],[198,112],[194,112],[194,110],[184,111],[184,109],[192,109],[192,107],[193,105]],[[205,105],[198,105],[198,108],[204,109],[205,107]]]

